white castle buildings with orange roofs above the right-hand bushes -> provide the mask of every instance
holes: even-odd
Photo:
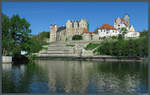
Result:
[[[118,36],[119,34],[125,33],[125,38],[138,38],[140,36],[139,32],[136,32],[133,25],[130,25],[129,23],[129,16],[126,14],[124,17],[116,18],[114,20],[114,26],[111,26],[109,24],[103,24],[98,29],[98,34],[100,38],[103,37],[112,37],[112,36]],[[123,30],[124,28],[124,30]]]

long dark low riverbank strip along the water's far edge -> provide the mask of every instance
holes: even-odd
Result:
[[[35,56],[35,59],[71,59],[71,60],[97,60],[97,61],[133,61],[146,62],[148,58],[142,57],[122,57],[122,56]]]

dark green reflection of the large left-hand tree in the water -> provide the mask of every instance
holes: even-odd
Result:
[[[2,91],[5,92],[30,92],[30,84],[33,82],[33,76],[37,75],[42,78],[42,69],[36,64],[13,65],[3,70]]]

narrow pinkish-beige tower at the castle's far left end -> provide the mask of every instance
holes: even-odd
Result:
[[[50,26],[50,42],[55,42],[56,41],[56,32],[58,30],[57,25],[51,25]]]

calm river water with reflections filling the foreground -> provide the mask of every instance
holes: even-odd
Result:
[[[61,60],[2,64],[2,92],[145,94],[148,64]]]

